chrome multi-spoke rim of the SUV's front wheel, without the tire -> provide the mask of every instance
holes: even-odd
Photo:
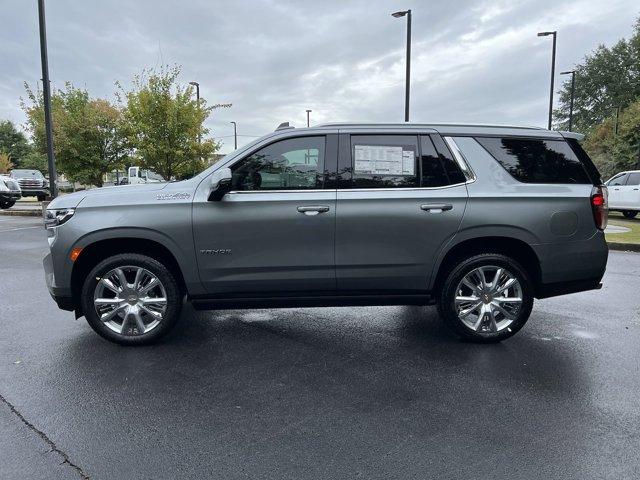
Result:
[[[109,270],[93,295],[98,318],[120,335],[150,332],[162,322],[167,294],[156,275],[142,267],[124,266]]]

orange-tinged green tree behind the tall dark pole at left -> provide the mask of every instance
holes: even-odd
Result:
[[[42,95],[27,88],[30,105],[23,108],[34,143],[46,151]],[[51,98],[56,165],[72,181],[102,186],[105,173],[119,168],[131,149],[122,109],[103,99],[91,99],[86,90],[67,83]],[[38,157],[31,160],[39,161]]]

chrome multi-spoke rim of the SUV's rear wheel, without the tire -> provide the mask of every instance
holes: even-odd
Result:
[[[456,314],[477,333],[494,334],[509,328],[521,307],[522,286],[503,267],[476,268],[462,278],[456,289]]]

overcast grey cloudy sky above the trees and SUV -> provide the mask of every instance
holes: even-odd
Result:
[[[49,69],[113,98],[145,67],[182,65],[212,103],[212,135],[233,148],[280,122],[403,120],[413,11],[411,120],[546,125],[550,37],[558,71],[628,36],[637,0],[48,0]],[[24,123],[23,82],[41,77],[36,0],[0,5],[0,119]],[[559,79],[557,80],[559,81]]]

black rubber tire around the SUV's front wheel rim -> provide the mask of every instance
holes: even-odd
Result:
[[[111,270],[125,266],[140,267],[151,272],[157,277],[161,282],[161,286],[164,288],[166,307],[163,318],[160,323],[149,332],[142,334],[135,334],[135,332],[133,332],[132,335],[117,333],[101,321],[98,312],[96,312],[93,299],[99,280]],[[149,345],[166,335],[178,322],[182,308],[182,298],[183,295],[180,292],[175,277],[162,263],[146,255],[123,253],[103,260],[91,270],[84,281],[81,302],[87,322],[98,335],[111,342],[119,343],[120,345]],[[131,330],[135,329],[132,328]]]

